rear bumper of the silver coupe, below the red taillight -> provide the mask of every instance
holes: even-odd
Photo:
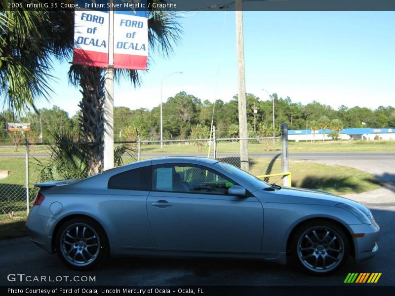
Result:
[[[52,248],[52,236],[50,230],[55,222],[54,219],[37,215],[38,206],[33,206],[26,221],[30,239],[48,253],[54,253]]]

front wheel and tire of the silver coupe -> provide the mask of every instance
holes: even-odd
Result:
[[[295,265],[314,275],[327,275],[348,259],[350,243],[336,223],[316,220],[300,226],[292,238],[291,256]]]

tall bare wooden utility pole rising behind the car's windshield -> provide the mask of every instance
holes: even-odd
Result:
[[[236,43],[237,43],[237,101],[238,130],[240,137],[240,168],[246,172],[248,164],[247,104],[245,99],[244,41],[243,41],[243,3],[236,0]]]

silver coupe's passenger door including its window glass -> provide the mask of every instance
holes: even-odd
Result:
[[[262,205],[251,194],[229,195],[232,180],[191,164],[156,165],[152,174],[147,212],[157,249],[261,251]]]

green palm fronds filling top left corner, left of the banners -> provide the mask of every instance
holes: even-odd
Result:
[[[71,57],[74,14],[7,9],[7,2],[0,2],[1,105],[14,114],[37,111],[37,100],[52,93],[52,59]]]

